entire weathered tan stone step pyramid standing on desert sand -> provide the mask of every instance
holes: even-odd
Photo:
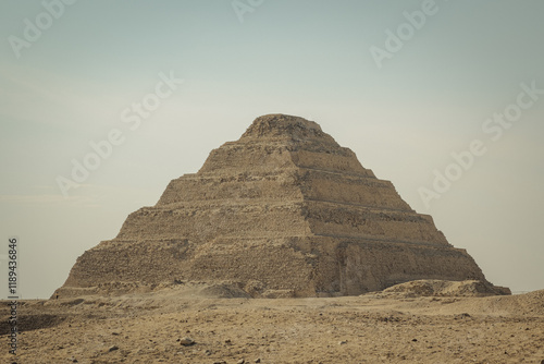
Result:
[[[269,114],[79,256],[55,294],[226,281],[254,296],[333,296],[419,279],[487,284],[431,216],[316,122]]]

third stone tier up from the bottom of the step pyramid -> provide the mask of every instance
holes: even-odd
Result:
[[[238,198],[329,199],[411,211],[390,181],[360,173],[290,168],[268,172],[188,174],[170,182],[156,206]]]

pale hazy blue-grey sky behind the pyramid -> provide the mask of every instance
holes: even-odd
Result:
[[[536,0],[2,1],[1,275],[17,235],[23,296],[49,296],[170,180],[288,113],[393,181],[490,281],[544,289],[543,14]],[[94,170],[75,181],[74,163]]]

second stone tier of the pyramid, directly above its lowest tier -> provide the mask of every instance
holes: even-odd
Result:
[[[180,234],[199,241],[233,235],[323,234],[448,245],[428,215],[323,201],[250,199],[193,202],[174,209],[146,207],[128,216],[118,238],[168,239]]]

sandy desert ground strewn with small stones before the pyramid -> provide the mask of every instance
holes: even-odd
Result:
[[[17,363],[544,363],[544,290],[218,296],[193,287],[20,302]],[[13,360],[8,310],[4,301],[2,363]]]

